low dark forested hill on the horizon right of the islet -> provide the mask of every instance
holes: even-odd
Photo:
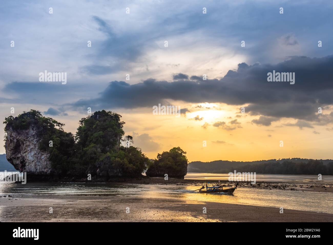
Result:
[[[333,160],[314,160],[306,158],[285,158],[260,161],[211,161],[190,162],[187,172],[194,173],[229,173],[256,172],[266,174],[322,174],[333,175]]]

